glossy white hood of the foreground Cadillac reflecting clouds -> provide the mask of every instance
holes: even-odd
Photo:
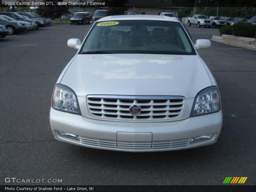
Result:
[[[77,96],[172,95],[194,98],[212,86],[197,55],[78,54],[61,84]]]

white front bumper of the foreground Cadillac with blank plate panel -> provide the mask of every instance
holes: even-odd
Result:
[[[128,123],[103,121],[51,108],[50,125],[57,140],[71,144],[116,151],[151,152],[201,147],[217,141],[222,112],[189,117],[180,121]],[[59,131],[78,135],[74,140]],[[191,138],[213,134],[208,140],[191,143]]]

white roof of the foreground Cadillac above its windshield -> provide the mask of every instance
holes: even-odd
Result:
[[[114,15],[103,17],[98,21],[112,21],[112,20],[152,20],[152,21],[173,21],[180,22],[173,17],[159,16],[159,15]]]

